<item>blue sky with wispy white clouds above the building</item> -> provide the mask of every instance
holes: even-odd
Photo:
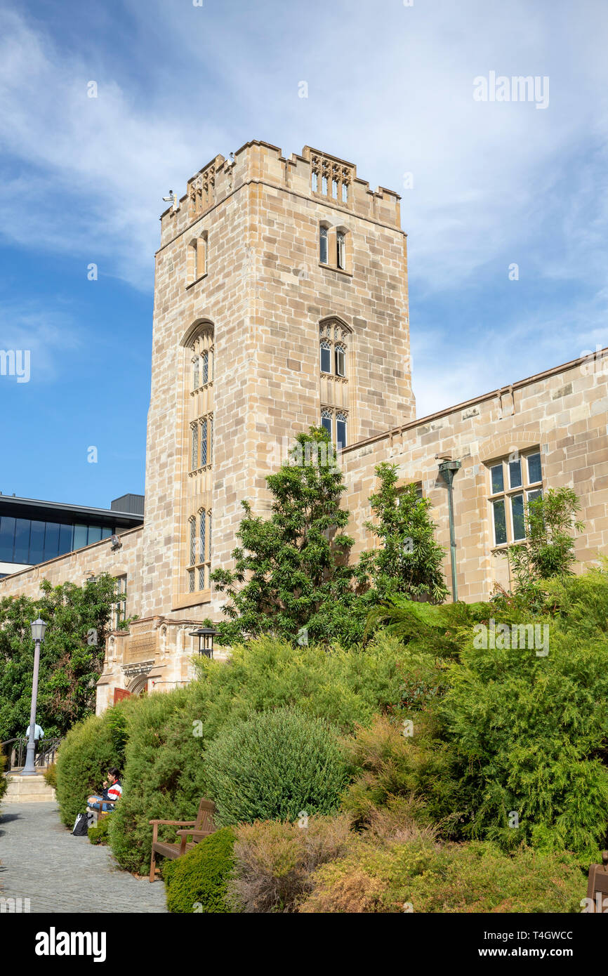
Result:
[[[605,0],[38,0],[0,17],[0,349],[31,350],[28,383],[0,376],[5,494],[143,491],[162,196],[251,139],[401,192],[419,416],[608,346]],[[547,107],[476,102],[491,71],[547,77]]]

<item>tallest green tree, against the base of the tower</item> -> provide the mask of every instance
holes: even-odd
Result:
[[[326,610],[353,601],[354,569],[347,564],[353,541],[343,532],[348,512],[340,508],[345,484],[327,431],[299,433],[290,460],[266,484],[270,517],[255,516],[243,502],[235,568],[212,574],[230,597],[218,641],[232,644],[265,631],[295,639],[302,629],[308,639],[331,641],[336,634],[328,622],[338,621]]]

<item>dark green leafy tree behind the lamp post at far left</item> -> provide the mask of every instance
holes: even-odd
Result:
[[[45,735],[60,737],[95,711],[115,581],[108,574],[83,587],[52,587],[43,580],[41,590],[37,600],[0,599],[0,740],[23,735],[29,722],[34,660],[29,625],[37,617],[48,625],[40,647],[36,718]]]

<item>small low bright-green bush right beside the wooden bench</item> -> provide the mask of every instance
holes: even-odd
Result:
[[[229,828],[205,837],[163,870],[167,908],[175,913],[231,912],[227,884],[234,867],[234,834]]]

